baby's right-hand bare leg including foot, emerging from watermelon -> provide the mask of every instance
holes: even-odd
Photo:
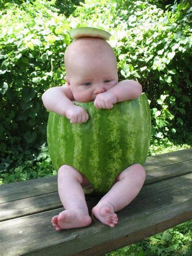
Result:
[[[114,213],[128,205],[139,193],[145,181],[145,169],[133,164],[117,175],[116,183],[92,209],[93,215],[103,224],[114,227],[118,218]]]

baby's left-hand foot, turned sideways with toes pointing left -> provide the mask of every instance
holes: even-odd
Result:
[[[57,231],[60,229],[81,228],[91,224],[92,219],[83,209],[73,208],[62,211],[51,220]]]

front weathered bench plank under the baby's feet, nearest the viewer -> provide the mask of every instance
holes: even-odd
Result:
[[[192,218],[191,185],[192,174],[188,174],[143,187],[134,201],[117,213],[119,223],[115,228],[93,219],[88,227],[56,232],[50,220],[61,209],[3,221],[0,231],[1,254],[2,256],[105,254],[109,250],[132,243],[133,239],[141,240],[190,220]],[[92,207],[92,203],[90,201],[89,207]],[[115,242],[119,243],[118,246]]]

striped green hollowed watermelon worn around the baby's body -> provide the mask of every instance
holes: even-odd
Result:
[[[151,114],[145,93],[118,102],[113,109],[96,109],[94,102],[76,102],[86,109],[86,123],[71,124],[50,112],[47,125],[49,154],[55,170],[73,166],[89,179],[94,194],[103,195],[126,167],[145,164],[151,136]]]

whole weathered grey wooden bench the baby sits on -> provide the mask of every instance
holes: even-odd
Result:
[[[0,186],[0,255],[103,255],[192,219],[192,149],[150,156],[139,195],[119,211],[115,228],[93,218],[85,228],[56,232],[63,210],[57,177]],[[99,198],[86,196],[91,211]]]

